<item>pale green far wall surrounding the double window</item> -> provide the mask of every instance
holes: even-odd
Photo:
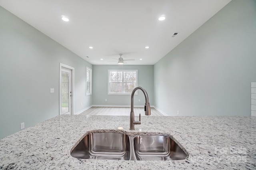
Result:
[[[93,105],[130,105],[131,95],[108,95],[108,69],[138,69],[138,86],[143,87],[154,105],[154,66],[153,65],[93,65],[92,67],[92,104]],[[107,101],[105,101],[107,99]],[[138,101],[140,99],[140,102]],[[145,104],[142,91],[134,96],[134,105]],[[129,115],[129,113],[128,113]]]

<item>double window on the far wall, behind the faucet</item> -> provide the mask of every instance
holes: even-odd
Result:
[[[108,70],[108,95],[130,95],[137,85],[138,70]]]

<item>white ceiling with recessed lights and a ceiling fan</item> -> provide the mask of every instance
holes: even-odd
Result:
[[[91,64],[117,64],[108,61],[123,53],[135,59],[125,64],[153,65],[230,1],[0,0],[0,5]],[[166,20],[159,21],[163,14]]]

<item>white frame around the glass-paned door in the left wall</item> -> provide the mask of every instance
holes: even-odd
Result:
[[[59,115],[62,115],[61,114],[61,68],[66,68],[66,69],[70,69],[71,70],[71,91],[72,91],[72,96],[71,96],[71,115],[74,115],[74,110],[75,110],[75,107],[74,107],[74,78],[75,78],[75,68],[74,67],[71,67],[69,65],[66,65],[66,64],[63,64],[63,63],[60,63],[60,81],[59,81]]]

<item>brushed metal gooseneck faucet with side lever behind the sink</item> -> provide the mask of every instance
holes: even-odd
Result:
[[[147,94],[146,90],[143,89],[142,87],[135,87],[132,91],[132,96],[131,96],[130,130],[134,130],[134,125],[141,124],[140,120],[134,121],[134,111],[133,111],[133,107],[134,107],[133,97],[134,97],[136,90],[138,90],[138,89],[140,89],[144,93],[144,96],[145,96],[145,100],[146,100],[145,106],[144,106],[145,115],[151,115],[150,105],[149,105],[149,101],[148,101],[148,94]]]

